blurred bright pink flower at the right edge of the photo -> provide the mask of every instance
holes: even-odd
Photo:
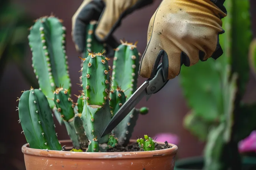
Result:
[[[256,152],[256,130],[238,143],[238,150],[242,152]]]

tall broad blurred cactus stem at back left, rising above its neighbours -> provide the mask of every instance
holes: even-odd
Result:
[[[50,107],[54,107],[53,93],[56,85],[70,89],[68,61],[66,55],[66,28],[54,16],[36,20],[28,35],[32,51],[32,67],[38,84],[47,97]]]

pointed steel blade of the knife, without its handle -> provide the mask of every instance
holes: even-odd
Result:
[[[111,122],[102,132],[101,137],[110,133],[111,130],[114,129],[125,118],[125,116],[127,116],[131,112],[131,110],[140,102],[140,100],[145,95],[147,95],[147,91],[146,91],[147,86],[148,86],[148,81],[143,83],[140,86],[140,88],[138,88],[132,94],[132,96],[123,104],[123,106],[120,107],[120,109],[113,116]]]

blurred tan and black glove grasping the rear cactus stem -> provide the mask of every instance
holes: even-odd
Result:
[[[152,2],[153,0],[84,0],[72,17],[71,34],[76,50],[84,52],[86,25],[91,20],[98,20],[95,36],[99,41],[107,43],[107,55],[113,55],[113,48],[119,43],[112,37],[112,33],[120,26],[121,19]]]

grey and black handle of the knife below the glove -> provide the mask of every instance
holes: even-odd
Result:
[[[149,85],[146,88],[147,94],[154,94],[161,90],[169,80],[164,81],[163,66],[160,63],[156,69],[156,75],[152,79],[148,79]]]

